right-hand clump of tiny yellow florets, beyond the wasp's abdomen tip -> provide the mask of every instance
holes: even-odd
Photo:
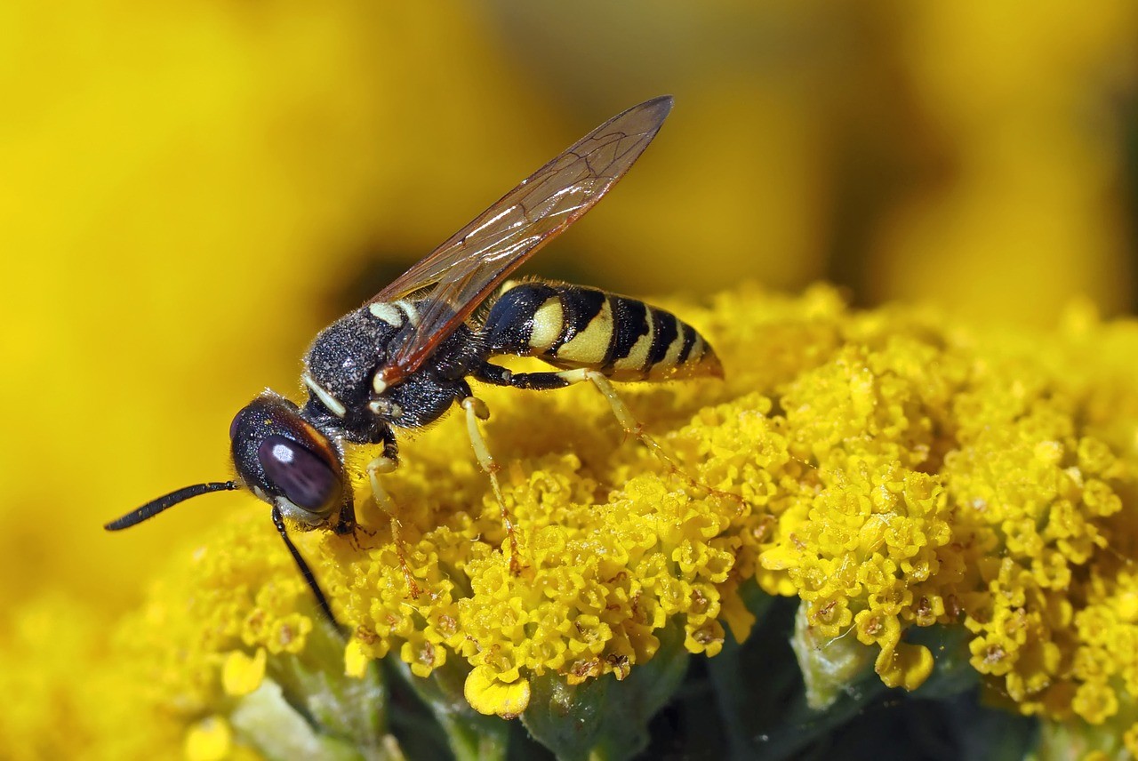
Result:
[[[933,669],[912,627],[963,623],[1017,710],[1103,722],[1138,685],[1136,428],[1103,404],[1138,398],[1125,355],[1083,362],[1088,326],[1044,348],[881,316],[856,316],[781,398],[819,490],[778,515],[764,588],[801,597],[826,637],[880,645],[891,686]],[[1132,351],[1132,326],[1107,330]]]

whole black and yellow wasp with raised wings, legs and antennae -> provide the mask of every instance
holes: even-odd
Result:
[[[427,425],[457,405],[501,507],[510,568],[518,573],[516,529],[502,499],[498,466],[479,429],[489,413],[468,379],[533,390],[589,381],[624,429],[667,460],[610,380],[723,375],[703,337],[668,312],[592,288],[506,283],[519,265],[580,218],[628,171],[670,109],[671,98],[660,97],[609,119],[370,301],[325,328],[304,359],[303,406],[265,391],[233,417],[233,480],[172,491],[105,528],[135,526],[203,494],[248,489],[272,506],[286,547],[335,622],[328,598],[289,538],[286,519],[302,529],[353,533],[356,518],[345,448],[378,446],[381,454],[366,474],[376,502],[391,516],[393,538],[401,547],[397,513],[380,479],[398,465],[396,432]],[[476,309],[484,305],[488,311],[477,319]],[[505,355],[537,357],[555,370],[514,373],[492,362]],[[418,596],[402,551],[399,562],[411,595]]]

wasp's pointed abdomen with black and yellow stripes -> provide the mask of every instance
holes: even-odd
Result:
[[[490,308],[485,336],[492,354],[588,367],[613,380],[723,375],[694,328],[670,312],[594,288],[512,284]]]

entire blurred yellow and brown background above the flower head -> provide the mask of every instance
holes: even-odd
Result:
[[[1133,309],[1138,5],[0,7],[0,645],[98,628],[199,527],[232,414],[587,130],[676,107],[526,272],[633,293],[827,279],[1050,324]]]

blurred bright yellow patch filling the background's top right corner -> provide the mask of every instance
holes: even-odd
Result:
[[[935,298],[1039,324],[1072,292],[1132,309],[1133,207],[1113,199],[1133,182],[1138,6],[913,10],[899,59],[942,167],[884,213],[871,298]]]

